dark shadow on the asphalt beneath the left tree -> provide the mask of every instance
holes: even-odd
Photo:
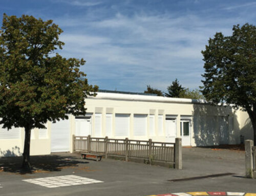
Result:
[[[21,169],[23,157],[1,157],[0,158],[0,173],[37,173],[48,171],[61,171],[65,168],[76,168],[78,164],[87,164],[89,162],[82,161],[78,156],[70,155],[45,155],[31,156],[30,163],[33,169],[25,171]]]

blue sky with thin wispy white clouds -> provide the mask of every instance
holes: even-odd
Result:
[[[0,0],[0,20],[3,13],[52,19],[65,42],[57,52],[84,58],[80,70],[99,89],[166,92],[176,78],[198,89],[208,39],[256,25],[255,9],[246,0]]]

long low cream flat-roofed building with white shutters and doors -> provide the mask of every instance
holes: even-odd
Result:
[[[183,146],[239,144],[241,135],[252,139],[246,112],[230,106],[212,106],[203,100],[152,95],[99,92],[86,99],[86,116],[47,123],[47,129],[34,129],[31,155],[72,151],[72,135],[129,138],[174,142]],[[0,156],[21,155],[23,128],[0,129]]]

